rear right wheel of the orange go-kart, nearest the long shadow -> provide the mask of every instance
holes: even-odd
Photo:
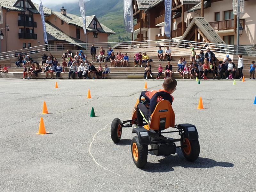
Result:
[[[180,141],[180,146],[181,146],[181,151],[184,155],[184,157],[188,160],[188,161],[195,161],[200,153],[200,145],[199,145],[199,141],[197,140],[189,140],[186,137],[181,137],[181,141]]]

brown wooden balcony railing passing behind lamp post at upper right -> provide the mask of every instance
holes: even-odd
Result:
[[[228,19],[228,20],[221,20],[221,21],[214,21],[209,23],[213,30],[229,30],[234,29],[234,19]],[[240,24],[244,28],[244,19],[240,19]]]

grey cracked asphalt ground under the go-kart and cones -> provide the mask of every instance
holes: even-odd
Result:
[[[149,153],[143,169],[132,161],[131,128],[115,144],[110,126],[131,118],[145,81],[57,82],[0,79],[0,191],[256,191],[255,81],[179,80],[175,121],[196,125],[199,158]],[[163,81],[147,83],[160,89]],[[41,116],[50,134],[36,135]]]

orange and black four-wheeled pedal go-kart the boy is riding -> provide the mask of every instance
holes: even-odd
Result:
[[[132,119],[126,121],[120,121],[115,118],[111,124],[111,139],[117,143],[121,139],[122,129],[124,127],[134,127],[137,124],[137,105],[139,102],[149,106],[149,99],[137,99],[137,102],[132,111]],[[188,161],[195,161],[200,153],[200,146],[198,141],[198,133],[196,126],[192,124],[179,124],[174,125],[175,114],[172,109],[172,105],[167,100],[158,102],[154,112],[151,114],[148,120],[148,124],[143,122],[144,127],[137,127],[132,129],[132,133],[137,135],[133,137],[131,143],[132,159],[134,164],[142,168],[147,164],[148,151],[153,151],[156,156],[175,154],[176,148],[181,148],[184,157]],[[164,131],[165,129],[172,127],[174,131]],[[172,139],[164,137],[165,133],[179,133],[180,139]],[[177,144],[176,146],[175,143]],[[150,149],[148,149],[150,145]]]

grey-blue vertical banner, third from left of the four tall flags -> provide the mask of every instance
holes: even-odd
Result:
[[[127,32],[133,32],[132,0],[124,0],[124,26]]]

